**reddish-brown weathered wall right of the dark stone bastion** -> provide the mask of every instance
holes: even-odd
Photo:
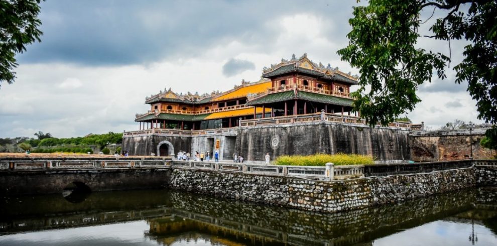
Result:
[[[490,150],[480,146],[485,131],[475,129],[471,143],[467,130],[413,132],[409,136],[411,157],[414,161],[422,162],[463,160],[470,156],[472,145],[474,159],[490,159]]]

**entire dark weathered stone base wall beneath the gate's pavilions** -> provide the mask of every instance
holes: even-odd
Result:
[[[125,136],[122,150],[130,155],[159,155],[158,145],[166,141],[174,147],[174,153],[218,151],[221,160],[231,160],[234,153],[247,161],[264,161],[266,153],[270,153],[272,160],[281,155],[354,153],[392,161],[411,159],[408,135],[409,130],[402,128],[304,122],[242,127],[230,132],[205,130],[205,134],[190,136],[160,133]]]

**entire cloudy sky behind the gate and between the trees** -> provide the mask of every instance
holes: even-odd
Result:
[[[17,56],[14,84],[0,89],[0,138],[42,131],[55,137],[138,130],[145,97],[227,90],[257,81],[262,68],[304,52],[357,73],[336,51],[347,45],[356,1],[49,0],[41,4],[42,42]],[[431,14],[431,13],[430,13]],[[426,30],[425,30],[426,31]],[[447,52],[447,43],[420,47]],[[464,43],[451,43],[453,63]],[[456,54],[456,55],[455,55]],[[452,69],[451,65],[451,69]],[[408,114],[436,129],[476,120],[466,85],[448,79],[420,88]]]

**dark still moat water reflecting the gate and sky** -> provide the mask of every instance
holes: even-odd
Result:
[[[3,197],[1,245],[497,245],[497,189],[334,214],[172,190]]]

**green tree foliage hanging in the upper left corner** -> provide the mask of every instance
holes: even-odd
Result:
[[[41,0],[0,0],[0,86],[11,84],[16,78],[17,53],[26,45],[40,42],[43,34],[38,27]]]

